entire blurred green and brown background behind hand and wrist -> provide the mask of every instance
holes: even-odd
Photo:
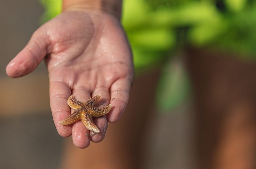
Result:
[[[5,74],[60,0],[0,4],[1,169],[256,168],[255,1],[124,0],[129,105],[86,149],[57,134],[43,63],[22,78]]]

